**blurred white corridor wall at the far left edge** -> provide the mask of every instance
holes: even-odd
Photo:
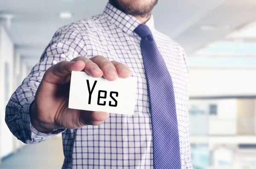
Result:
[[[6,104],[13,92],[13,55],[14,45],[0,26],[0,157],[14,150],[14,136],[5,123]]]

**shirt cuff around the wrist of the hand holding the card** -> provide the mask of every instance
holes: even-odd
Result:
[[[23,109],[23,135],[27,138],[28,143],[38,143],[42,140],[58,135],[64,132],[66,129],[54,130],[51,133],[42,133],[35,129],[30,122],[30,107],[34,102],[35,97],[29,97],[29,101],[25,104]]]

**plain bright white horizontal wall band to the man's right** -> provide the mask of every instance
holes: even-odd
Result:
[[[190,97],[256,95],[256,68],[189,69]]]

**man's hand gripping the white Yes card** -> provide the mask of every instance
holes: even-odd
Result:
[[[38,86],[35,101],[30,110],[32,126],[39,132],[47,133],[53,129],[77,129],[85,125],[100,125],[109,117],[107,112],[68,108],[72,71],[84,71],[92,77],[103,75],[109,81],[131,75],[127,66],[109,61],[103,56],[90,59],[76,57],[71,61],[62,61],[51,66]]]

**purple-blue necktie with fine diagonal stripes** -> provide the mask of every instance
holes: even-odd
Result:
[[[145,24],[134,32],[140,42],[147,79],[153,134],[154,169],[180,169],[179,131],[172,78]]]

